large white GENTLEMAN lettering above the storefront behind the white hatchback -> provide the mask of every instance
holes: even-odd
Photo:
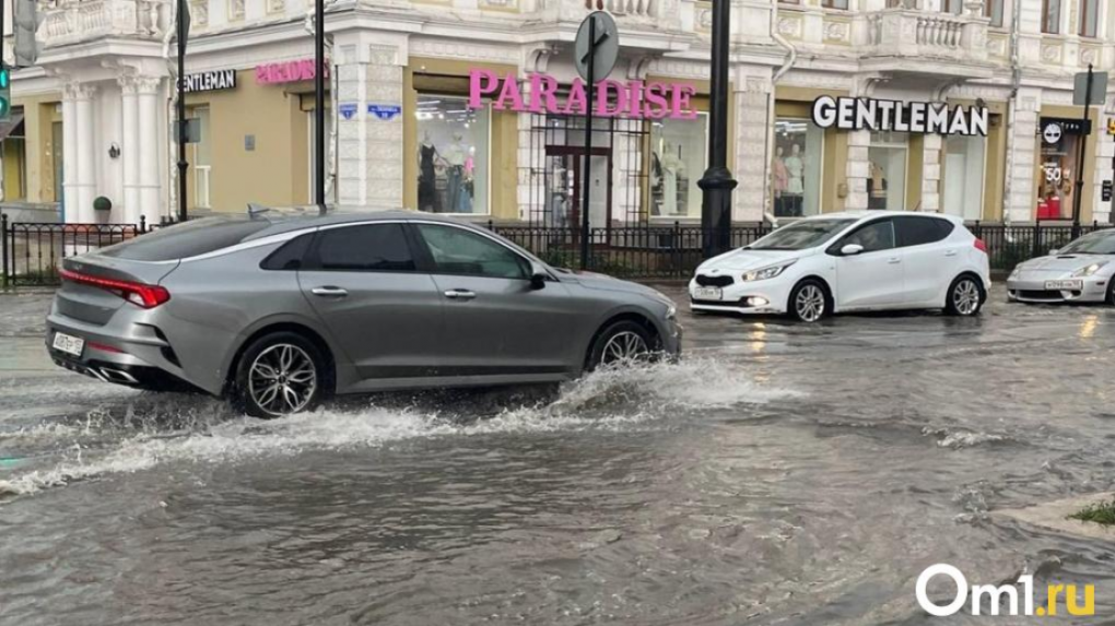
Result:
[[[841,130],[987,136],[988,116],[987,107],[832,96],[813,101],[813,124]]]

